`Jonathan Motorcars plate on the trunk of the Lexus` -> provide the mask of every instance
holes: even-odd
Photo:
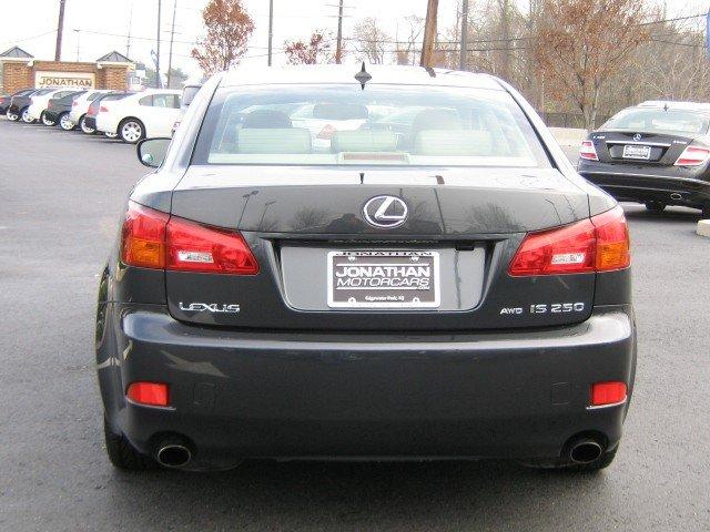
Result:
[[[438,252],[329,252],[328,307],[436,308]]]

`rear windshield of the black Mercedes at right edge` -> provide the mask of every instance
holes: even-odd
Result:
[[[706,134],[708,115],[662,109],[626,109],[601,126],[602,130],[632,130],[645,133]]]

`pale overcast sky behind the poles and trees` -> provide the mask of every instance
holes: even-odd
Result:
[[[4,1],[4,0],[3,0]],[[170,28],[175,0],[162,0],[161,68],[168,66]],[[207,0],[178,0],[175,12],[175,43],[173,64],[191,75],[199,74],[190,50],[202,32],[201,10]],[[527,6],[527,0],[521,3]],[[245,63],[266,63],[268,32],[268,0],[244,0],[255,21]],[[475,0],[470,1],[476,4]],[[283,42],[286,39],[305,38],[314,29],[332,29],[337,24],[337,0],[274,0],[274,62],[283,63]],[[448,28],[456,19],[457,0],[439,0],[439,27]],[[669,0],[669,16],[694,14],[707,9],[707,2],[697,0]],[[3,23],[0,31],[0,51],[13,44],[27,50],[38,59],[54,55],[57,16],[59,0],[21,0],[13,2],[13,11],[31,13],[22,17],[21,23]],[[346,19],[344,35],[353,24],[365,17],[376,17],[393,35],[404,28],[404,18],[409,14],[423,17],[426,0],[345,0]],[[474,8],[471,8],[474,9]],[[67,0],[64,14],[64,40],[62,59],[94,61],[112,50],[126,53],[130,28],[130,58],[151,64],[150,52],[155,48],[158,0]],[[75,31],[79,30],[79,31]],[[400,37],[404,38],[404,31]]]

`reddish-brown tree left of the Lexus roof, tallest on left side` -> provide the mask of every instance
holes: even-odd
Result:
[[[242,0],[210,0],[202,19],[207,34],[192,50],[192,57],[203,72],[209,75],[239,63],[254,31]]]

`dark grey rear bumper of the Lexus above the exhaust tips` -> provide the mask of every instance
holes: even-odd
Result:
[[[612,448],[628,401],[589,409],[589,387],[631,390],[636,366],[627,306],[547,330],[387,337],[225,331],[161,306],[112,307],[98,350],[111,426],[149,454],[166,433],[185,437],[195,469],[255,457],[550,459],[579,432]],[[126,401],[133,381],[168,382],[171,408]]]

